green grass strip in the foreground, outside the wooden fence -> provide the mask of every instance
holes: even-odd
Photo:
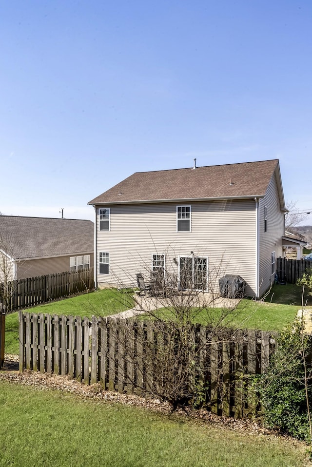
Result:
[[[305,446],[0,382],[0,465],[299,467]],[[4,429],[5,427],[5,429]]]

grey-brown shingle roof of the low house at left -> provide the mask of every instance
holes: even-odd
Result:
[[[91,220],[0,215],[0,250],[13,259],[92,253],[94,223]]]

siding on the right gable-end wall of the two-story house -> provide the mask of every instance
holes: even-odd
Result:
[[[267,232],[264,232],[264,207],[267,207]],[[275,258],[283,255],[282,236],[284,235],[284,213],[281,211],[277,182],[273,174],[267,193],[259,201],[259,296],[271,286],[274,276],[271,273],[271,253]]]

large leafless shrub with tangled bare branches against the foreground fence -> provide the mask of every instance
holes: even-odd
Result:
[[[229,350],[227,362],[234,358],[230,354],[233,333],[229,328],[237,311],[233,302],[216,290],[218,278],[224,273],[222,261],[209,271],[209,277],[204,264],[198,263],[192,275],[185,264],[179,277],[172,266],[167,263],[166,269],[163,265],[156,271],[147,266],[142,268],[146,283],[149,279],[150,291],[135,294],[134,308],[145,320],[119,321],[109,332],[118,334],[118,342],[122,336],[122,348],[126,347],[131,357],[126,370],[129,384],[142,393],[169,401],[175,409],[205,400],[210,368],[210,357],[205,355],[212,346],[216,368],[218,342]],[[139,374],[133,371],[134,366]],[[217,371],[221,378],[221,370]],[[214,390],[216,394],[218,388],[215,386]]]

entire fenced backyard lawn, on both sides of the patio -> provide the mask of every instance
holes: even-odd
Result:
[[[128,293],[131,292],[131,293]],[[304,302],[312,307],[312,296],[305,293]],[[301,308],[302,288],[294,285],[275,284],[263,301],[243,299],[238,307],[227,313],[222,325],[234,328],[261,329],[263,331],[278,331],[291,323]],[[58,302],[47,303],[34,307],[36,313],[64,314],[91,317],[93,314],[108,316],[133,307],[132,291],[104,289]],[[162,317],[170,311],[159,310]],[[224,310],[210,308],[199,313],[194,321],[201,324],[217,322]],[[145,316],[146,318],[146,316]],[[6,316],[5,352],[19,353],[19,318],[18,313]]]

